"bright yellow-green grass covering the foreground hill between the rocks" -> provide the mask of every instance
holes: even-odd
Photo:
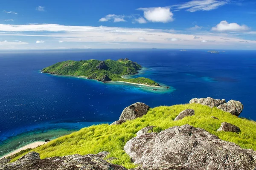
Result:
[[[188,116],[182,120],[173,121],[175,117],[185,109],[194,109],[195,115]],[[212,119],[211,116],[219,120]],[[240,133],[217,132],[222,122],[228,122],[238,126]],[[70,154],[85,155],[88,153],[99,153],[101,151],[110,152],[109,157],[116,157],[111,161],[114,164],[123,165],[126,168],[136,167],[131,162],[130,157],[124,152],[125,143],[136,136],[136,133],[143,127],[154,125],[154,132],[160,132],[173,126],[189,124],[194,127],[201,127],[210,133],[218,136],[225,141],[234,142],[242,148],[256,150],[256,122],[241,119],[230,113],[221,111],[217,108],[209,108],[201,104],[186,104],[174,106],[160,106],[150,109],[146,115],[122,125],[93,125],[85,127],[67,136],[59,137],[48,144],[44,144],[34,149],[40,153],[41,159],[52,156],[65,156]],[[12,161],[15,161],[23,153]]]

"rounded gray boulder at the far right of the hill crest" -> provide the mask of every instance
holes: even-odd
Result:
[[[236,116],[239,116],[239,114],[243,111],[243,108],[244,105],[242,105],[241,102],[236,100],[230,100],[227,103],[218,106],[218,109],[229,112]]]

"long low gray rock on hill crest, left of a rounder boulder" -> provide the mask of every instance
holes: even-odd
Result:
[[[207,97],[207,98],[194,98],[191,99],[189,101],[189,103],[200,103],[201,105],[206,105],[209,106],[211,108],[213,107],[218,107],[219,105],[222,105],[224,103],[226,103],[225,99],[212,99],[211,97]]]

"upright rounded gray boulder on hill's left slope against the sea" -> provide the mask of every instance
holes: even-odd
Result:
[[[145,103],[134,103],[122,111],[122,114],[119,120],[132,120],[138,117],[142,117],[149,110],[149,106],[145,105]]]

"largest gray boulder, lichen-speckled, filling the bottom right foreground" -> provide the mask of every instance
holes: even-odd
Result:
[[[189,170],[253,170],[256,167],[256,151],[242,149],[190,125],[136,136],[125,144],[124,150],[143,168],[180,166]]]

